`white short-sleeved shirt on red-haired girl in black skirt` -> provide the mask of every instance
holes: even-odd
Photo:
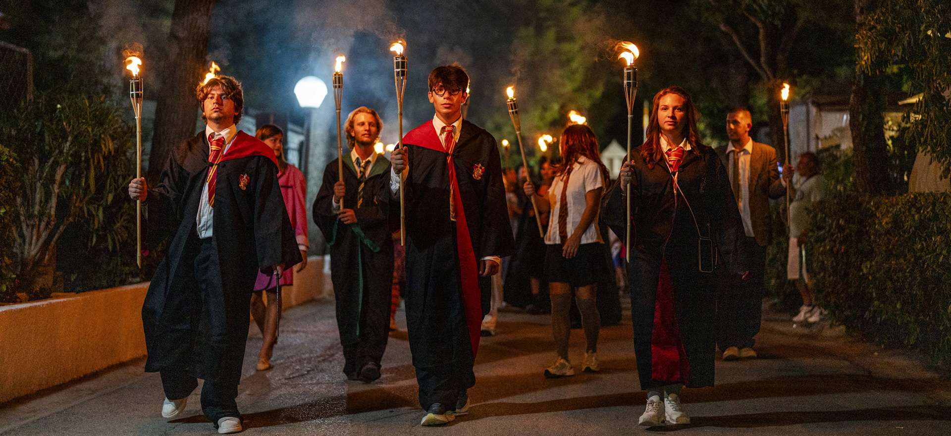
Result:
[[[561,245],[565,241],[561,240],[558,234],[558,211],[561,210],[561,204],[567,206],[568,219],[566,221],[566,230],[568,236],[574,233],[574,228],[581,223],[581,215],[588,207],[588,192],[604,188],[604,179],[601,176],[601,166],[592,162],[584,156],[578,156],[572,167],[572,175],[568,178],[568,188],[565,190],[565,196],[561,196],[562,188],[565,186],[565,173],[554,178],[552,186],[548,188],[548,201],[552,205],[552,212],[549,213],[548,233],[545,234],[545,244]],[[600,210],[600,206],[597,208]],[[601,230],[597,226],[597,215],[594,215],[594,221],[591,226],[585,229],[581,235],[581,244],[591,244],[594,242],[604,243],[601,239]]]

